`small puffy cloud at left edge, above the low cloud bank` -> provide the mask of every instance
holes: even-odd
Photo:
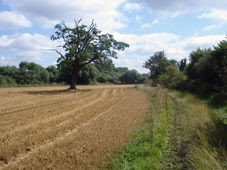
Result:
[[[0,12],[0,29],[16,29],[31,27],[32,23],[22,14],[16,12]]]

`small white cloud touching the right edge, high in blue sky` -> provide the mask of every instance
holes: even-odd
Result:
[[[227,23],[227,10],[213,9],[208,13],[203,13],[202,15],[198,16],[198,18],[219,20],[219,21]]]

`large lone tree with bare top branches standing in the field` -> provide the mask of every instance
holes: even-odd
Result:
[[[75,27],[69,28],[64,22],[55,26],[57,30],[51,40],[63,40],[65,54],[55,50],[59,55],[58,63],[64,63],[70,70],[70,89],[76,89],[76,80],[80,70],[90,63],[108,63],[117,58],[117,50],[124,50],[128,44],[118,42],[111,34],[101,34],[92,21],[90,26],[75,21]]]

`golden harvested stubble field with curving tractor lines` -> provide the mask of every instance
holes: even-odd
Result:
[[[0,89],[0,169],[95,169],[149,108],[134,85]]]

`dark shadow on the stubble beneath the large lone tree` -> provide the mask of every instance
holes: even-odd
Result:
[[[59,94],[68,94],[68,93],[78,93],[78,92],[90,92],[91,89],[83,89],[83,90],[42,90],[42,91],[23,91],[20,93],[30,94],[30,95],[59,95]]]

